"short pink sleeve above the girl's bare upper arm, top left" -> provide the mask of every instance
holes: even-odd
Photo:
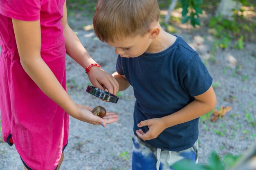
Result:
[[[40,19],[41,0],[0,0],[0,13],[9,18],[25,21]]]

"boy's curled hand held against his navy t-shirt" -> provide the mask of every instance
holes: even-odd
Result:
[[[143,132],[143,130],[139,129],[136,130],[136,134],[138,135],[139,138],[141,138],[144,141],[155,139],[166,128],[164,127],[164,124],[162,123],[161,119],[158,118],[144,120],[138,124],[139,128],[143,126],[148,126],[148,131],[145,133]]]

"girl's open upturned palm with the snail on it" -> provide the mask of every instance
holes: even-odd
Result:
[[[105,127],[106,124],[111,124],[118,120],[118,115],[116,115],[113,112],[107,112],[106,116],[101,118],[99,116],[93,115],[93,113],[91,112],[93,108],[89,106],[83,106],[83,105],[77,104],[77,107],[79,110],[79,117],[75,117],[75,118],[81,121],[85,121],[89,124],[102,125],[103,127]]]

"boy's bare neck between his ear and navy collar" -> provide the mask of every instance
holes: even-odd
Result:
[[[172,44],[174,44],[176,39],[177,37],[171,35],[170,33],[167,33],[161,28],[158,37],[152,40],[152,42],[148,46],[148,49],[146,50],[146,53],[162,52],[168,47],[170,47]]]

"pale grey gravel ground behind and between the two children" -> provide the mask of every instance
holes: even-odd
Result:
[[[209,69],[218,99],[216,108],[232,107],[215,123],[210,121],[211,115],[204,116],[204,122],[200,121],[199,162],[207,163],[212,150],[220,156],[242,154],[256,142],[256,44],[245,42],[244,50],[219,50],[216,57],[211,57],[213,37],[209,33],[180,30],[176,34],[198,51]],[[115,71],[117,55],[114,49],[97,40],[93,31],[78,29],[77,35],[105,71]],[[103,102],[85,92],[90,81],[83,68],[68,56],[67,84],[68,93],[76,103],[92,107],[101,105],[116,112],[119,121],[103,128],[71,117],[69,144],[61,170],[130,170],[135,102],[132,88],[119,93],[117,104]],[[21,169],[22,162],[15,146],[9,147],[0,141],[0,170]]]

